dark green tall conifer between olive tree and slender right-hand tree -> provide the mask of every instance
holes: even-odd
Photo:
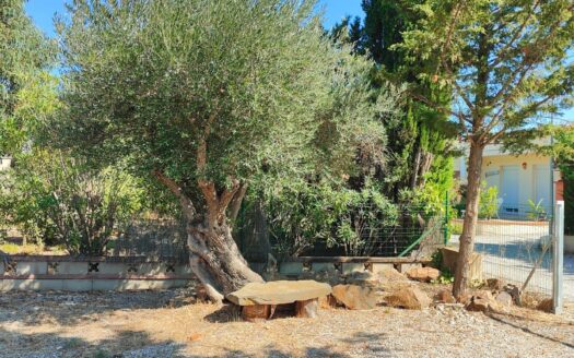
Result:
[[[376,67],[372,70],[374,87],[384,86],[388,81],[407,83],[410,92],[423,93],[447,107],[450,103],[448,90],[430,85],[418,77],[433,61],[413,60],[406,56],[403,49],[396,47],[402,43],[402,32],[417,26],[420,14],[412,7],[419,2],[364,0],[364,25],[361,25],[359,17],[345,19],[333,27],[332,33],[352,43],[356,53],[367,53],[375,61]],[[384,182],[382,188],[385,194],[399,201],[403,199],[401,194],[405,192],[413,193],[415,189],[424,188],[429,178],[441,178],[447,179],[446,182],[432,183],[424,189],[432,190],[431,187],[436,184],[438,189],[433,193],[436,198],[431,201],[442,203],[453,178],[449,160],[456,131],[449,123],[448,116],[424,103],[410,99],[403,105],[403,115],[388,118],[385,128],[393,139],[387,145],[388,158],[385,166],[377,172],[377,177]],[[423,200],[424,204],[429,204],[429,199]]]

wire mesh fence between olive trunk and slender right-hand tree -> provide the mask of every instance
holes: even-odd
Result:
[[[443,213],[423,207],[361,206],[320,232],[298,236],[273,227],[262,207],[243,213],[237,230],[239,249],[249,261],[265,262],[267,254],[286,256],[407,256],[429,253],[445,241]],[[293,235],[294,234],[294,235]],[[430,254],[430,253],[429,253]]]

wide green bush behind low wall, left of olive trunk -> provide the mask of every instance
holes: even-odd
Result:
[[[98,255],[142,208],[143,193],[129,175],[90,168],[61,153],[19,157],[0,190],[0,214],[27,239],[63,244],[72,254]]]

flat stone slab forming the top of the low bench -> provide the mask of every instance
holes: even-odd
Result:
[[[331,286],[316,281],[273,281],[250,283],[225,298],[238,306],[286,305],[306,301],[331,293]]]

